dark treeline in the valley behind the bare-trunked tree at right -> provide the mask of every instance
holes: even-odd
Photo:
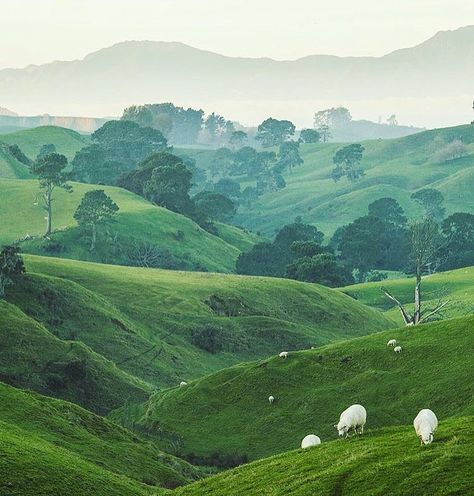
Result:
[[[367,215],[337,229],[327,245],[323,233],[298,218],[272,242],[241,254],[237,272],[331,287],[383,280],[383,271],[413,273],[421,256],[414,251],[420,249],[420,232],[429,233],[421,243],[431,253],[425,273],[474,265],[474,215],[457,212],[445,217],[443,196],[435,189],[419,190],[412,198],[424,210],[422,221],[408,222],[397,200],[381,198],[369,205]]]

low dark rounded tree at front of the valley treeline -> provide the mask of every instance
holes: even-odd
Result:
[[[354,283],[350,270],[340,265],[332,253],[298,258],[286,270],[290,279],[314,282],[331,288]]]

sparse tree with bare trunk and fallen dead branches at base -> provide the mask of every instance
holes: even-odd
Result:
[[[410,271],[415,275],[413,312],[408,312],[406,307],[386,288],[382,288],[382,291],[398,306],[405,325],[413,326],[434,318],[449,302],[447,300],[440,300],[434,307],[426,310],[422,307],[422,277],[424,274],[434,271],[440,262],[440,255],[443,248],[443,239],[437,222],[433,218],[414,222],[409,229],[409,241],[410,253],[408,262]]]

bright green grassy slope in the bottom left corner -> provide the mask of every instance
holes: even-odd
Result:
[[[0,383],[1,494],[145,495],[196,476],[104,418]]]

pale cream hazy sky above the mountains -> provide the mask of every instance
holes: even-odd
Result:
[[[473,0],[0,0],[0,12],[0,68],[131,39],[276,59],[383,55],[474,24]]]

